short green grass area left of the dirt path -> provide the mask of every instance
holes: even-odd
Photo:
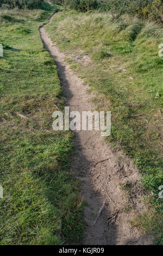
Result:
[[[68,173],[72,135],[52,130],[52,113],[64,106],[61,84],[38,32],[55,9],[0,9],[1,245],[83,237],[80,184]]]

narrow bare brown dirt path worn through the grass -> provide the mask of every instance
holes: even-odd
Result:
[[[54,15],[49,22],[53,18]],[[39,28],[41,39],[57,63],[66,106],[80,113],[93,111],[95,106],[90,102],[88,88],[65,62],[64,54],[53,44],[45,26]],[[84,211],[84,245],[151,244],[150,236],[140,234],[129,223],[135,211],[145,210],[140,175],[131,160],[120,149],[113,152],[97,131],[74,131],[74,145],[71,172],[82,180],[82,196],[88,203]],[[129,193],[121,189],[127,182],[133,184]]]

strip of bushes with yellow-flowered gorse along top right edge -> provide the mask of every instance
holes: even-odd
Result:
[[[138,15],[141,19],[161,21],[163,16],[162,0],[66,0],[64,4],[71,9],[83,12],[98,9],[103,12],[110,12],[114,19],[122,14],[128,13]]]

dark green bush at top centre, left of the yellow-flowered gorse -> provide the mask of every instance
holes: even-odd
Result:
[[[97,9],[99,6],[97,0],[66,0],[65,4],[71,9],[80,10],[84,13],[89,10]]]

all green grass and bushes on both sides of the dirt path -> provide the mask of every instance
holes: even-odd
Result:
[[[1,245],[79,244],[83,237],[80,184],[68,172],[72,135],[52,130],[52,113],[64,105],[61,85],[38,33],[54,2],[0,0]],[[162,21],[162,1],[64,4],[73,10],[58,13],[46,29],[96,92],[97,110],[112,112],[108,141],[132,157],[148,194],[149,211],[132,224],[163,244],[163,29],[152,22]],[[77,54],[89,54],[91,63],[82,65]]]

